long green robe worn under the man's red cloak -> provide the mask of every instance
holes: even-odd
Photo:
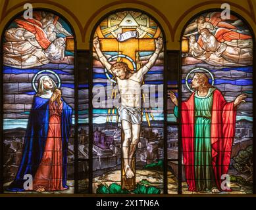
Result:
[[[210,88],[204,97],[195,93],[195,127],[194,127],[194,156],[195,156],[195,185],[197,191],[209,191],[215,188],[211,156],[211,110],[213,106],[213,91]],[[178,116],[178,108],[174,108]]]

